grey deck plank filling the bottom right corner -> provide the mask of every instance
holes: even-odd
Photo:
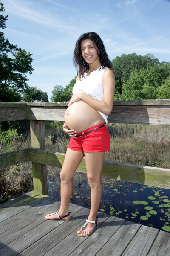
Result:
[[[170,233],[160,231],[148,256],[168,256],[170,255]]]

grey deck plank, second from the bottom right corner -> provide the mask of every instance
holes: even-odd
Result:
[[[140,227],[122,256],[136,256],[136,252],[138,256],[146,256],[158,233],[159,230],[156,228],[147,226]]]

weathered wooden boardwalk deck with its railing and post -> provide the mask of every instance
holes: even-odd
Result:
[[[62,167],[65,154],[45,151],[45,120],[64,120],[67,102],[0,103],[0,121],[30,120],[31,148],[0,154],[0,168],[31,161],[34,192],[0,206],[0,255],[170,256],[170,233],[99,213],[89,237],[77,230],[89,209],[70,204],[71,221],[49,221],[59,202],[48,197],[46,165]],[[108,122],[170,125],[170,100],[114,102]],[[86,172],[85,160],[77,169]],[[170,169],[104,161],[102,175],[170,189]]]

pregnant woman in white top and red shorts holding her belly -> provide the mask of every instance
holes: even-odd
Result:
[[[80,36],[74,49],[74,65],[78,70],[73,96],[65,112],[63,131],[71,139],[60,173],[61,205],[46,219],[71,219],[68,204],[73,191],[73,175],[85,156],[88,184],[91,187],[91,210],[78,236],[89,236],[98,226],[96,217],[102,198],[102,165],[105,151],[110,151],[106,127],[113,108],[115,78],[104,44],[94,32]]]

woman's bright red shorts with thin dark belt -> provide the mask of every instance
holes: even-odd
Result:
[[[83,135],[83,137],[71,137],[68,148],[74,151],[83,151],[87,153],[110,151],[111,139],[105,123],[95,125],[83,132],[90,131],[101,125],[104,126],[95,131],[91,131],[86,135]],[[77,135],[83,134],[83,132],[79,132]]]

